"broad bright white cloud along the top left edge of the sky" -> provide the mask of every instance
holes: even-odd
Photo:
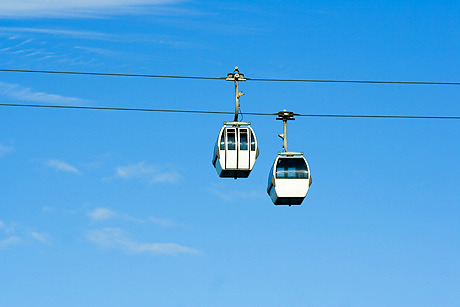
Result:
[[[3,17],[90,17],[110,13],[141,13],[146,6],[178,0],[0,0]]]

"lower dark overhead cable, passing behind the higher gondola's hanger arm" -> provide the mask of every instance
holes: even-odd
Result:
[[[71,105],[43,105],[43,104],[16,104],[0,103],[3,107],[26,107],[26,108],[55,108],[55,109],[82,109],[82,110],[108,110],[108,111],[138,111],[138,112],[166,112],[166,113],[195,113],[195,114],[234,114],[226,111],[202,111],[181,109],[149,109],[149,108],[121,108],[121,107],[95,107],[95,106],[71,106]],[[278,113],[245,112],[245,115],[277,116]],[[298,114],[303,117],[329,117],[329,118],[387,118],[387,119],[450,119],[460,120],[460,116],[416,116],[416,115],[353,115],[353,114]]]

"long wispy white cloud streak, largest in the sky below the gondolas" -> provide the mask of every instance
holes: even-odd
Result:
[[[121,249],[127,253],[153,255],[201,254],[200,251],[175,243],[145,243],[130,239],[121,228],[103,228],[87,232],[87,239],[103,248]]]

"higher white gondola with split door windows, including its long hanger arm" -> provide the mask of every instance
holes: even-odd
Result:
[[[238,81],[245,81],[238,67],[228,74],[226,80],[235,81],[235,118],[224,122],[214,146],[212,164],[222,178],[247,178],[259,156],[257,139],[251,123],[238,121],[239,99]]]

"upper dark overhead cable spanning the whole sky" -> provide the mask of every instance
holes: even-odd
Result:
[[[0,72],[65,74],[65,75],[90,75],[90,76],[111,76],[111,77],[139,77],[139,78],[198,79],[198,80],[225,80],[226,79],[226,77],[125,74],[125,73],[79,72],[79,71],[57,71],[57,70],[30,70],[30,69],[0,69]],[[436,82],[436,81],[378,81],[378,80],[278,79],[278,78],[246,78],[246,80],[248,80],[248,81],[271,81],[271,82],[310,82],[310,83],[355,83],[355,84],[400,84],[400,85],[460,85],[460,82]]]

